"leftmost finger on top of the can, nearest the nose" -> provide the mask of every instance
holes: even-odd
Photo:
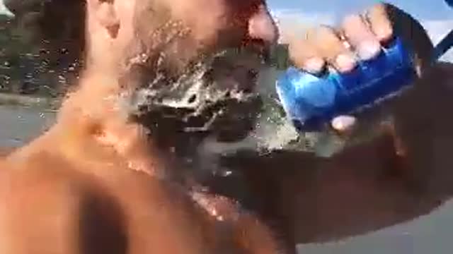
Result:
[[[316,47],[308,40],[294,40],[289,44],[289,55],[294,64],[309,73],[319,73],[326,61],[316,53]]]

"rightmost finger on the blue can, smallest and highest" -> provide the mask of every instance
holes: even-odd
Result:
[[[386,42],[391,39],[394,30],[384,4],[377,4],[369,9],[367,19],[379,42]]]

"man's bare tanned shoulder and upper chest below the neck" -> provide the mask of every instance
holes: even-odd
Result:
[[[233,202],[206,198],[202,209],[180,187],[102,155],[106,163],[75,164],[41,151],[5,164],[2,253],[278,253],[265,226]]]

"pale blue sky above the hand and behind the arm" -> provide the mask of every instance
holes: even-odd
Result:
[[[360,13],[376,4],[376,0],[267,0],[280,23],[280,30],[303,30],[306,25],[334,25],[350,13]],[[453,29],[453,8],[444,0],[387,0],[420,21],[432,42],[439,42]],[[453,49],[443,60],[453,61]]]

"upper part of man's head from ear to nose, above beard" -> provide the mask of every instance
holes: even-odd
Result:
[[[263,0],[87,0],[87,11],[95,61],[166,54],[167,68],[181,71],[200,54],[277,40]]]

